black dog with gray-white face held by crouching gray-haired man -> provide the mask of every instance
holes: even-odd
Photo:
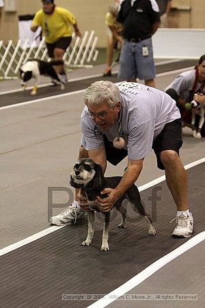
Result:
[[[92,242],[94,235],[95,211],[100,211],[98,205],[96,205],[95,202],[96,196],[102,196],[100,195],[100,191],[104,188],[115,188],[118,183],[120,183],[121,179],[122,177],[104,177],[101,166],[89,158],[79,159],[74,165],[70,174],[70,185],[74,188],[81,188],[81,194],[87,197],[88,205],[90,208],[87,213],[87,238],[84,242],[81,243],[81,245],[89,246]],[[124,201],[124,199],[127,199],[131,203],[134,211],[146,218],[149,226],[148,234],[156,234],[150,215],[146,213],[143,205],[141,204],[139,190],[135,184],[133,184],[131,188],[129,188],[126,193],[117,201],[117,203],[115,203],[116,209],[118,209],[122,215],[122,220],[118,227],[126,227],[126,209],[122,206],[122,201]],[[105,215],[105,222],[102,233],[102,246],[100,250],[109,251],[108,238],[110,211],[102,213]]]

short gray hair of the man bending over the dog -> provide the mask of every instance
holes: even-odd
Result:
[[[110,107],[115,107],[120,101],[120,90],[111,81],[96,81],[85,90],[83,100],[85,105],[96,106],[106,102]]]

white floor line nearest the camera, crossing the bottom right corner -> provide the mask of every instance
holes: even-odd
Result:
[[[123,285],[120,285],[117,289],[113,290],[100,300],[97,300],[95,303],[93,303],[90,306],[87,307],[92,307],[92,308],[104,308],[107,305],[113,303],[115,301],[115,298],[113,297],[120,297],[124,295],[126,292],[132,290],[134,287],[137,287],[141,282],[145,281],[150,277],[152,274],[157,272],[157,270],[160,270],[168,264],[170,261],[176,259],[179,255],[182,255],[182,253],[185,253],[186,251],[189,251],[189,249],[193,248],[200,242],[205,240],[205,231],[193,236],[189,241],[185,242],[178,248],[174,249],[171,253],[168,253],[164,257],[161,257],[161,259],[158,259],[154,263],[152,263],[150,266],[148,266],[145,270],[142,270],[139,272],[139,274],[135,275],[133,278],[130,280],[126,281]]]

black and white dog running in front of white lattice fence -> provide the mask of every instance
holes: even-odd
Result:
[[[31,78],[35,79],[31,95],[36,95],[38,84],[40,82],[40,75],[49,76],[55,84],[59,84],[61,90],[64,90],[64,84],[66,84],[66,74],[57,74],[53,66],[64,65],[64,61],[41,61],[41,60],[29,60],[20,68],[21,86],[24,90],[27,88],[27,81]]]

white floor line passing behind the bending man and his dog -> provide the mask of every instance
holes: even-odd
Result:
[[[205,157],[203,157],[202,159],[198,159],[195,162],[192,162],[191,164],[188,164],[186,166],[184,166],[184,168],[187,170],[189,168],[193,168],[194,166],[197,166],[199,164],[202,164],[205,162]],[[158,179],[155,179],[154,181],[150,181],[149,183],[146,183],[145,185],[142,185],[139,187],[139,191],[141,192],[142,190],[146,190],[158,183],[161,183],[162,181],[165,180],[165,176],[159,177]],[[5,248],[0,249],[0,257],[1,255],[5,255],[6,253],[10,253],[10,251],[14,251],[17,248],[20,248],[22,246],[25,246],[31,242],[34,242],[40,238],[43,238],[45,235],[48,235],[52,232],[55,232],[61,228],[64,228],[65,226],[62,227],[57,227],[57,226],[53,226],[53,227],[49,227],[48,229],[42,230],[36,234],[33,234],[31,236],[29,236],[29,238],[25,238],[24,240],[21,240],[19,242],[16,242],[14,244],[11,244],[10,246],[7,246]]]

